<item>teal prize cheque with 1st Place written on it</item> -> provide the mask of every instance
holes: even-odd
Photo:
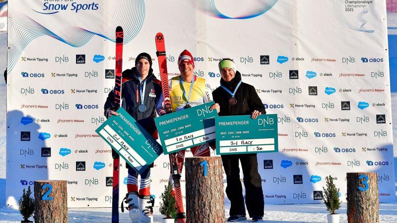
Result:
[[[154,118],[164,154],[198,146],[215,140],[216,110],[208,102]]]

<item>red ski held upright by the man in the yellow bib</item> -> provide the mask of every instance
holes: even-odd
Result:
[[[163,96],[164,96],[164,110],[165,112],[171,113],[171,98],[170,98],[170,86],[168,83],[168,71],[167,71],[167,57],[165,54],[165,44],[164,44],[164,35],[162,33],[157,33],[156,37],[156,55],[158,58],[158,66],[160,70],[160,79],[161,79],[161,87],[163,88]],[[178,168],[178,160],[177,154],[170,154],[170,164],[172,170],[172,178],[174,180],[174,188],[175,188],[175,200],[176,200],[176,208],[177,208],[177,221],[178,223],[186,223],[185,211],[183,209],[183,201],[182,201],[182,191],[181,191],[181,173]]]

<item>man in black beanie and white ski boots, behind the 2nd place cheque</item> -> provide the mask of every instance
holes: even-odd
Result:
[[[121,97],[122,107],[155,139],[158,138],[157,128],[154,122],[156,105],[161,105],[161,82],[156,79],[151,68],[151,57],[146,53],[136,56],[135,67],[127,69],[122,73]],[[158,106],[159,108],[162,106]],[[114,108],[114,91],[111,91],[104,106],[105,115],[117,115]],[[165,111],[158,111],[160,114]],[[138,192],[138,173],[126,164],[128,168],[126,195],[129,204],[130,218],[132,223],[153,222],[150,202],[150,167],[140,174],[140,187]],[[138,207],[138,196],[140,210]]]

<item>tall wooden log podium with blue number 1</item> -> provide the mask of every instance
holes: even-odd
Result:
[[[225,222],[220,157],[186,158],[186,222]]]

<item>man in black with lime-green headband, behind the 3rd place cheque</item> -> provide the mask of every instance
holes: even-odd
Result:
[[[254,86],[242,82],[240,72],[236,70],[236,65],[231,59],[222,59],[219,62],[219,70],[222,75],[221,86],[212,92],[214,102],[220,106],[219,116],[250,114],[251,118],[257,118],[260,114],[266,113]],[[261,175],[258,172],[257,154],[221,155],[221,157],[226,173],[226,195],[231,204],[228,221],[247,220],[239,160],[243,168],[248,214],[253,222],[262,221],[265,202]]]

